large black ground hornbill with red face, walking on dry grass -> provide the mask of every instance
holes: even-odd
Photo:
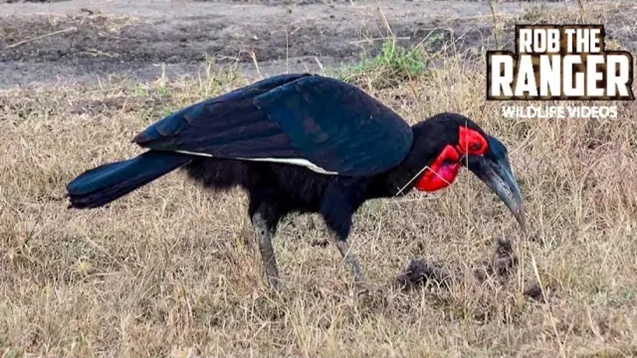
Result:
[[[279,276],[271,239],[291,212],[318,212],[362,282],[348,247],[352,215],[364,201],[414,187],[443,189],[466,166],[524,227],[505,146],[469,118],[441,113],[410,127],[365,92],[333,78],[275,76],[207,99],[134,138],[148,151],[85,171],[67,186],[71,206],[96,208],[183,167],[210,189],[247,190],[248,213],[266,274]]]

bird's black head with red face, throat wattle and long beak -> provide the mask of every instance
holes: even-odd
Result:
[[[413,179],[407,185],[409,189],[443,189],[454,182],[465,166],[504,201],[522,230],[526,230],[524,205],[505,145],[469,118],[455,113],[428,118],[413,125],[412,131],[412,150],[401,164]]]

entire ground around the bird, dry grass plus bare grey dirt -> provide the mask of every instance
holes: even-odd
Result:
[[[362,71],[361,87],[412,124],[454,111],[506,143],[529,235],[467,171],[370,201],[351,236],[369,296],[307,215],[280,224],[275,292],[245,194],[183,173],[67,209],[69,180],[140,154],[130,138],[163,115],[392,35],[373,1],[301,2],[0,3],[0,357],[637,356],[636,102],[603,103],[618,119],[505,119],[482,56],[514,22],[584,16],[634,55],[634,1],[498,3],[496,24],[482,2],[379,1],[400,44],[432,40],[436,69],[392,87]]]

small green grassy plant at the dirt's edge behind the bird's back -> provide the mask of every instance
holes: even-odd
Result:
[[[361,62],[347,66],[336,76],[348,82],[371,78],[379,88],[395,87],[404,80],[424,75],[427,60],[421,47],[399,47],[395,39],[383,43],[381,51],[373,58],[361,56]]]

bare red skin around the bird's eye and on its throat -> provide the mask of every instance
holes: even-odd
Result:
[[[454,182],[460,170],[460,158],[464,154],[482,155],[487,150],[487,140],[478,132],[466,127],[460,127],[460,140],[453,145],[443,148],[438,157],[416,182],[416,189],[432,192],[448,187]]]

